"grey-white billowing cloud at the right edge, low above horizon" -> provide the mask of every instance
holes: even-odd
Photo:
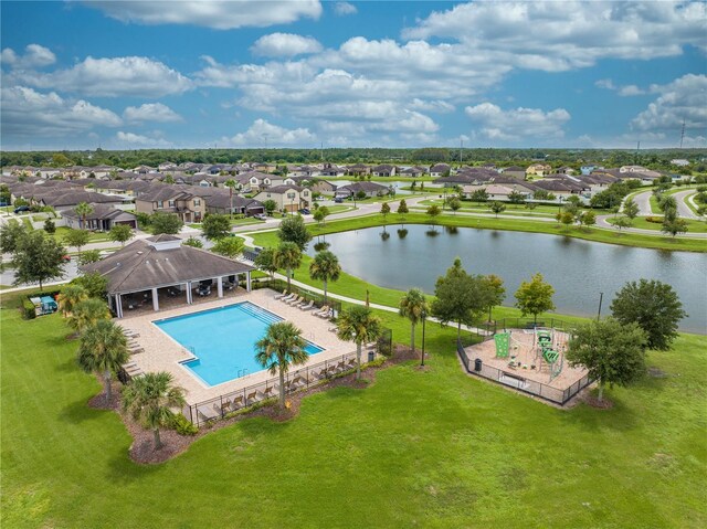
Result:
[[[707,130],[707,76],[687,74],[665,86],[652,85],[661,96],[631,121],[639,131]],[[675,133],[673,133],[675,134]]]

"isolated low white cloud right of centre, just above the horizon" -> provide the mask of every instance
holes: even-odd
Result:
[[[506,141],[520,138],[562,138],[562,126],[570,119],[564,108],[544,112],[539,108],[503,110],[492,103],[467,106],[464,112],[481,125],[481,133],[488,139]]]

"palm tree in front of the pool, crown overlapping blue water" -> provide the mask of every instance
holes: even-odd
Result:
[[[279,408],[285,406],[285,373],[289,366],[305,363],[309,356],[302,330],[289,321],[279,321],[267,328],[267,334],[255,343],[255,360],[270,371],[279,374]]]

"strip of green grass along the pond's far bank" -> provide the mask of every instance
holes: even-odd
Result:
[[[394,211],[395,208],[391,209]],[[399,215],[391,213],[383,220],[382,215],[367,215],[355,219],[346,219],[339,221],[328,221],[326,225],[317,226],[309,225],[309,231],[316,235],[324,235],[327,233],[342,232],[348,230],[359,230],[363,228],[371,228],[387,223],[388,225],[395,224],[429,224],[430,218],[422,213],[410,213],[407,215]],[[510,230],[529,233],[548,233],[551,235],[570,236],[574,239],[583,239],[585,241],[597,241],[610,244],[621,244],[624,246],[639,246],[646,248],[659,248],[659,250],[679,250],[686,252],[707,252],[707,241],[699,241],[695,239],[685,237],[671,237],[671,236],[654,236],[654,235],[640,235],[635,233],[622,233],[619,230],[601,230],[597,228],[585,229],[580,226],[560,226],[550,222],[532,222],[531,220],[510,219],[510,218],[476,218],[476,216],[462,216],[453,214],[440,215],[436,219],[439,225],[450,225],[460,228],[478,228],[487,230]],[[266,245],[270,239],[274,236],[274,232],[271,234],[257,234],[254,233],[253,237],[256,244]],[[264,237],[264,239],[261,239]]]

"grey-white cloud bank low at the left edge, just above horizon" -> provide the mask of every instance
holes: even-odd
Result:
[[[2,88],[2,133],[13,137],[61,136],[93,127],[117,127],[115,113],[55,92],[42,94],[25,86]]]

